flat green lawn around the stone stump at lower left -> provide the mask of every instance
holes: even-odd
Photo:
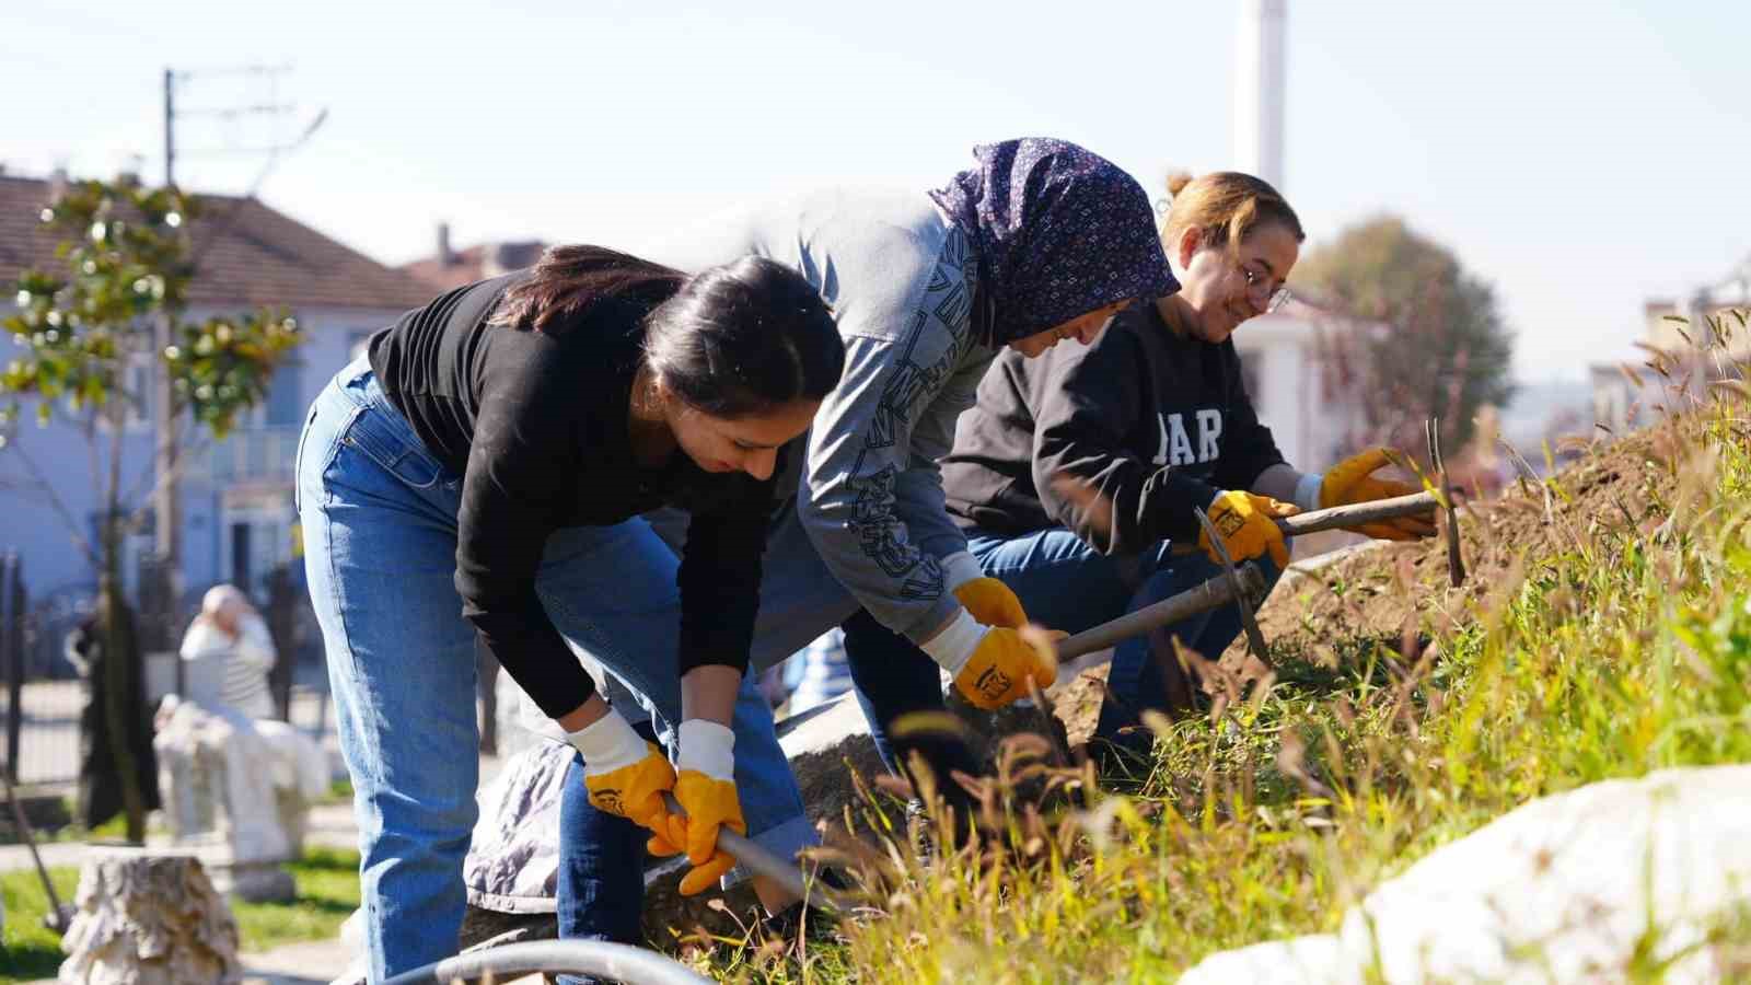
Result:
[[[333,939],[341,922],[359,906],[359,854],[312,848],[285,866],[298,882],[291,903],[233,903],[242,948],[263,952],[296,941]],[[72,903],[79,885],[77,868],[49,869],[61,903]],[[53,978],[61,966],[61,939],[42,925],[47,896],[35,869],[0,875],[5,899],[5,953],[0,981]]]

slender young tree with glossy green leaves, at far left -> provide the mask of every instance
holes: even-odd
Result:
[[[98,626],[107,661],[103,713],[112,755],[123,778],[128,838],[145,836],[137,752],[124,727],[140,680],[140,652],[121,585],[121,545],[142,519],[152,489],[123,485],[126,421],[145,415],[152,373],[168,373],[173,412],[224,438],[238,414],[257,403],[275,366],[303,338],[284,314],[182,321],[194,261],[189,242],[200,203],[175,188],[147,188],[137,179],[84,181],[44,205],[40,221],[65,237],[58,270],[26,270],[16,284],[16,312],[0,324],[12,335],[14,358],[0,372],[0,454],[21,461],[68,526],[98,582]],[[159,351],[154,330],[168,321],[175,342]],[[149,370],[140,373],[137,370]],[[7,433],[23,403],[35,419],[74,422],[89,445],[91,482],[98,491],[96,542],[81,528],[60,491]],[[180,456],[179,461],[186,461]],[[170,480],[154,475],[152,484]]]

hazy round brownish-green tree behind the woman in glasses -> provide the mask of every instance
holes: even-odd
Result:
[[[1294,282],[1366,322],[1320,340],[1326,396],[1361,407],[1354,443],[1413,449],[1424,419],[1439,415],[1443,443],[1457,449],[1480,408],[1513,396],[1513,331],[1495,291],[1403,219],[1343,230],[1301,259]]]

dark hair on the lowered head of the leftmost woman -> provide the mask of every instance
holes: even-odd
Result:
[[[762,256],[690,277],[644,328],[651,377],[713,417],[821,400],[839,386],[844,363],[821,296],[800,273]]]

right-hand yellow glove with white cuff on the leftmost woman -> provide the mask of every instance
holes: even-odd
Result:
[[[686,817],[669,815],[669,833],[658,833],[646,848],[651,855],[686,852],[693,868],[681,878],[681,896],[697,896],[735,868],[735,859],[718,848],[718,831],[728,827],[748,834],[748,822],[735,796],[735,733],[718,722],[688,719],[681,722],[679,743],[674,799],[681,801]]]

